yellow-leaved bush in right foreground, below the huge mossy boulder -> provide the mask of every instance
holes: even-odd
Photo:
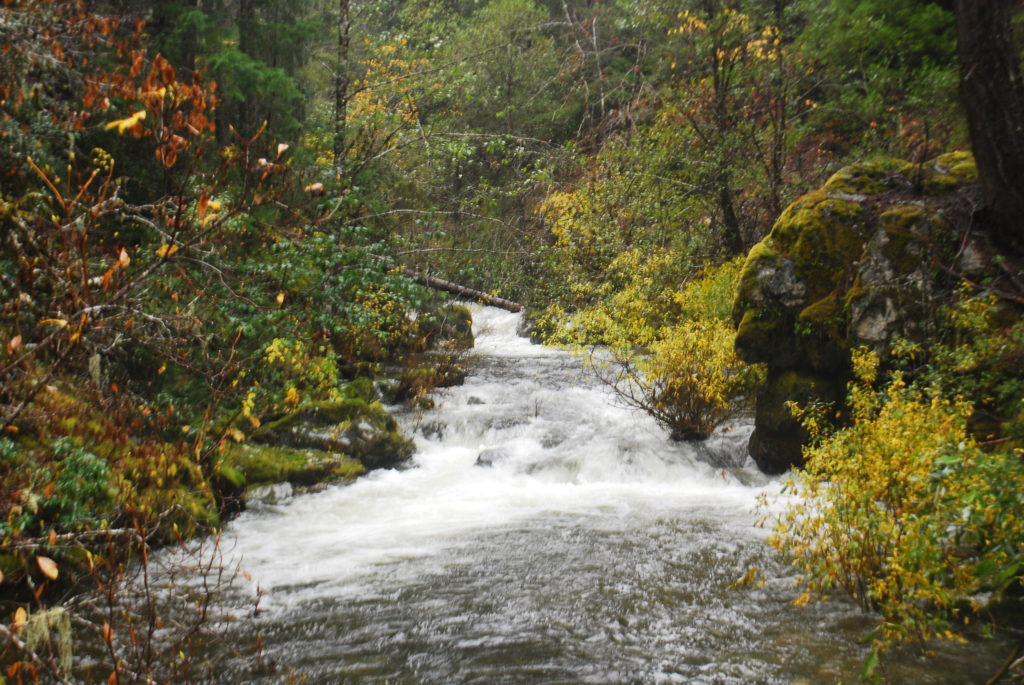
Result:
[[[976,443],[967,403],[899,376],[877,391],[877,358],[853,362],[852,425],[807,422],[816,440],[771,543],[803,570],[800,603],[838,589],[878,611],[877,648],[954,638],[980,593],[1020,575],[1024,462]]]

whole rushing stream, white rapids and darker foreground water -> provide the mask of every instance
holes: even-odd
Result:
[[[402,417],[412,468],[228,527],[264,592],[234,643],[258,640],[270,674],[231,682],[857,681],[870,620],[792,605],[757,526],[779,486],[745,460],[749,425],[672,443],[579,359],[516,337],[517,315],[474,316],[465,385]],[[763,584],[730,587],[751,568]],[[883,675],[984,682],[999,653],[908,651]]]

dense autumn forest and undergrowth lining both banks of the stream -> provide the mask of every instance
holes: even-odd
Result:
[[[1020,86],[1012,3],[978,4],[999,8]],[[4,0],[0,527],[14,616],[3,633],[22,648],[8,675],[67,668],[18,638],[26,607],[70,592],[58,568],[95,569],[98,555],[105,571],[92,575],[113,584],[121,552],[218,525],[244,486],[225,455],[261,426],[316,402],[368,400],[359,379],[398,377],[407,401],[444,382],[457,351],[438,349],[449,314],[423,276],[525,304],[539,338],[604,345],[602,373],[626,401],[673,438],[707,435],[763,382],[733,351],[732,305],[748,251],[782,210],[854,162],[921,165],[978,145],[978,119],[957,96],[965,57],[950,10],[923,0]],[[978,197],[1002,197],[989,190]],[[1013,231],[992,232],[1004,270],[1016,269]],[[951,543],[938,527],[920,530],[914,549],[938,556],[920,570],[924,594],[910,596],[909,561],[898,577],[885,554],[836,570],[846,560],[801,547],[817,533],[795,521],[780,544],[827,557],[811,589],[861,593],[892,618],[886,640],[942,634],[965,597],[1019,576],[1024,516],[993,512],[1022,506],[1024,335],[1008,309],[1022,295],[965,285],[938,346],[890,365],[918,380],[918,394],[887,403],[858,386],[843,419],[863,440],[902,435],[878,423],[896,421],[881,408],[920,417],[906,403],[945,388],[945,413],[909,433],[951,421],[958,441],[1001,451],[972,446],[988,470],[967,469],[936,505],[945,515],[984,502],[964,522],[973,565],[942,555]],[[878,387],[877,365],[857,358],[850,380]],[[971,437],[979,408],[989,432]],[[896,452],[915,448],[909,433]],[[865,595],[853,576],[882,580]],[[938,611],[910,615],[910,605]],[[161,661],[134,634],[119,643],[110,620],[92,625],[114,674],[130,661],[189,675],[195,665]]]

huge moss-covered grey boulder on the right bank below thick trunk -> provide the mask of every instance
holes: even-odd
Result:
[[[750,441],[762,470],[802,462],[807,434],[785,402],[841,409],[850,350],[866,345],[885,358],[896,339],[925,339],[955,286],[940,265],[984,262],[984,248],[959,245],[944,210],[975,180],[969,153],[853,165],[794,202],[751,250],[733,320],[739,356],[768,366]]]

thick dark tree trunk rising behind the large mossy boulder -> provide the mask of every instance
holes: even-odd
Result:
[[[955,0],[961,100],[986,205],[1002,249],[1024,252],[1024,82],[1013,0]]]

